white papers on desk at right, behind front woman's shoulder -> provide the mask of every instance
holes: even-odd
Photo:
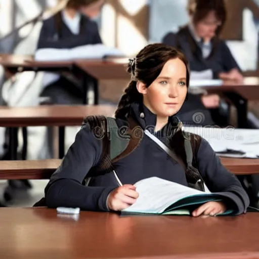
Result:
[[[220,156],[259,158],[259,130],[185,126],[184,131],[207,140]]]

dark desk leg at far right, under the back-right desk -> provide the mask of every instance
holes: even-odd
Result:
[[[238,128],[248,128],[247,121],[247,100],[236,93],[225,94],[237,108],[237,126]]]

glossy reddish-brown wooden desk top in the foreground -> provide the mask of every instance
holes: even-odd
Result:
[[[259,213],[237,217],[119,217],[0,208],[3,258],[259,258]]]

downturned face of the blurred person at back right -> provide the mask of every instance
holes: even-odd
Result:
[[[215,31],[220,25],[221,22],[215,16],[215,12],[211,11],[195,25],[195,31],[199,37],[210,40],[215,36]]]

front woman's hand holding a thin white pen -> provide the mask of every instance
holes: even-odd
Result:
[[[125,184],[110,192],[107,200],[107,205],[110,210],[119,211],[131,206],[139,193],[134,185]]]

